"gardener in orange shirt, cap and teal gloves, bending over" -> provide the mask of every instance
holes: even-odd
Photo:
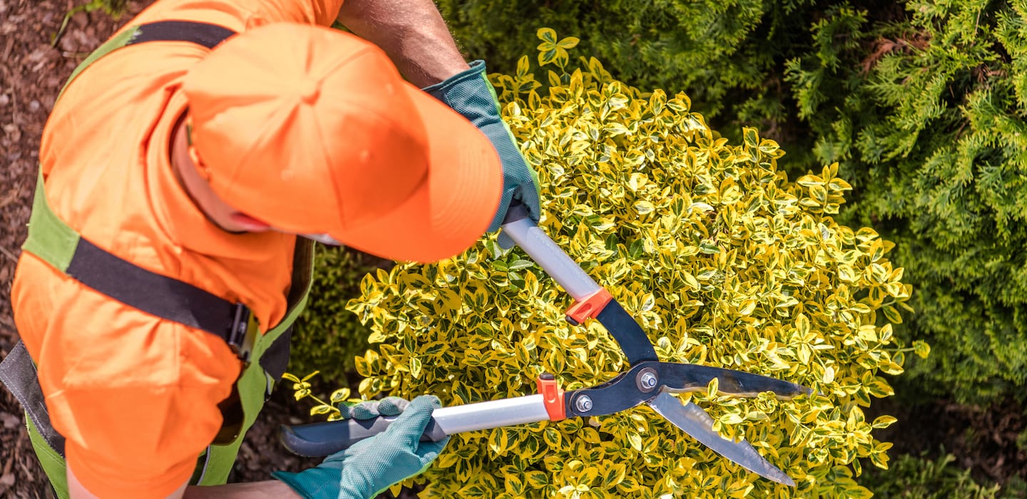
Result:
[[[187,487],[227,481],[284,371],[311,238],[430,262],[511,197],[538,218],[484,64],[431,1],[340,3],[158,0],[54,105],[2,375],[59,496],[369,497],[445,446],[417,440],[421,396],[315,468]]]

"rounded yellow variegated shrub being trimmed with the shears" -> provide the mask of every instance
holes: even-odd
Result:
[[[422,497],[869,497],[857,458],[886,467],[864,409],[891,394],[913,348],[890,322],[909,297],[892,244],[831,216],[849,189],[829,165],[789,181],[777,145],[730,144],[684,94],[643,93],[596,60],[567,67],[573,39],[542,30],[540,84],[524,57],[493,75],[503,113],[542,179],[540,226],[642,323],[660,360],[800,383],[821,395],[691,400],[745,435],[796,489],[721,458],[648,408],[455,435],[418,482]],[[548,40],[548,41],[545,41]],[[550,46],[551,45],[551,46]],[[598,323],[564,319],[571,299],[494,235],[435,265],[397,265],[360,283],[348,308],[370,324],[360,395],[439,395],[444,405],[565,389],[627,369]],[[926,345],[917,345],[917,352]],[[683,398],[688,398],[687,395]]]

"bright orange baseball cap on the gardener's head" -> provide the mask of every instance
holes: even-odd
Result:
[[[489,140],[356,36],[255,28],[215,47],[183,89],[215,193],[277,229],[433,262],[473,244],[496,214],[502,166]]]

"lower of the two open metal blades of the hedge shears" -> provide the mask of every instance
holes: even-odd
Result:
[[[760,456],[756,452],[756,449],[748,442],[733,442],[717,434],[713,430],[713,418],[702,408],[692,402],[682,405],[681,400],[675,398],[667,391],[660,391],[658,395],[647,404],[657,414],[667,418],[668,421],[681,428],[682,431],[691,435],[692,438],[713,449],[717,454],[734,461],[741,467],[764,478],[795,487],[795,482],[791,477],[781,469],[777,469],[773,464],[770,464],[769,461],[763,459],[763,456]]]

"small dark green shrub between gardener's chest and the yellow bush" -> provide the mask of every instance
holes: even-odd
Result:
[[[320,371],[319,381],[348,384],[347,374],[353,372],[354,357],[367,349],[370,330],[346,310],[346,303],[359,296],[358,284],[368,272],[391,266],[365,253],[317,245],[307,309],[293,332],[291,372]]]

